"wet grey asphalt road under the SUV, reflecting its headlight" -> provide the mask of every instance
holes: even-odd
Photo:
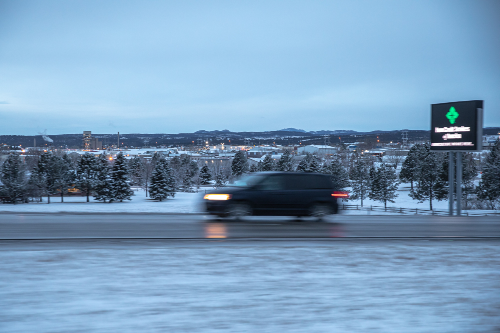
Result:
[[[1,214],[0,240],[500,238],[500,217],[336,215],[325,221],[251,217],[217,221],[188,214]]]

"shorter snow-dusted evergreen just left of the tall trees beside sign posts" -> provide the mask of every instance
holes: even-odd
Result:
[[[396,172],[391,166],[382,163],[373,172],[368,197],[371,200],[383,202],[383,206],[387,208],[387,201],[394,202],[392,199],[398,196],[396,194],[397,184]]]

